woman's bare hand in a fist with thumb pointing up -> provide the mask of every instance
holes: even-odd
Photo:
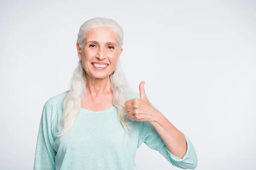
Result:
[[[135,98],[125,102],[125,110],[131,120],[142,122],[154,122],[159,112],[149,102],[144,89],[145,81],[140,82],[140,99]]]

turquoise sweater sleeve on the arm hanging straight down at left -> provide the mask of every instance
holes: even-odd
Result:
[[[51,130],[52,105],[44,104],[35,149],[34,170],[55,170],[54,138]]]

